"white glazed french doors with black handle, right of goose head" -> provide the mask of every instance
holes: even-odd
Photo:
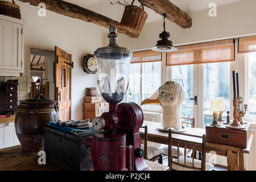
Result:
[[[230,109],[230,68],[234,63],[209,63],[171,67],[171,80],[179,82],[187,98],[182,107],[182,117],[195,118],[195,127],[204,128],[212,122],[210,100],[225,98],[226,111]]]

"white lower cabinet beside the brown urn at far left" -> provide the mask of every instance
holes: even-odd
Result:
[[[13,147],[20,144],[15,133],[14,122],[0,123],[0,148]]]

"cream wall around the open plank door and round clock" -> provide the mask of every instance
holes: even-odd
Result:
[[[30,59],[27,56],[27,47],[43,47],[54,51],[58,46],[65,51],[72,52],[72,119],[82,119],[82,99],[85,88],[96,86],[96,75],[87,75],[82,68],[82,59],[88,53],[93,53],[103,46],[103,32],[105,28],[93,23],[84,22],[63,16],[52,11],[46,17],[39,17],[38,7],[29,3],[16,1],[20,6],[21,16],[26,20],[25,35],[25,63]],[[24,66],[27,75],[27,65]]]

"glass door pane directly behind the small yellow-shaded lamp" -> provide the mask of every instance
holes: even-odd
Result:
[[[204,64],[204,100],[203,100],[203,127],[212,122],[210,113],[210,100],[217,97],[225,98],[226,110],[223,113],[226,119],[226,111],[230,107],[230,63],[210,63]],[[199,111],[200,112],[200,111]]]

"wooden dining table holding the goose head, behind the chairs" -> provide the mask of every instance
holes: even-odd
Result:
[[[160,125],[160,123],[144,121],[142,126],[145,126],[145,125],[148,126],[148,131],[147,131],[148,141],[155,142],[155,143],[168,144],[168,133],[164,133],[158,130],[158,125]],[[140,133],[141,135],[144,134],[143,128],[140,129]],[[205,129],[188,127],[187,130],[184,131],[184,133],[203,136],[203,134],[205,134]],[[177,135],[177,134],[172,134],[172,137],[189,140],[192,142],[198,142],[198,143],[201,143],[201,140],[202,140],[200,138],[188,137],[188,136]],[[243,154],[249,154],[252,140],[253,140],[253,135],[251,135],[250,139],[247,142],[247,148],[226,146],[223,144],[207,142],[206,152],[209,153],[210,151],[215,151],[217,155],[226,156],[228,160],[228,170],[243,171],[244,170]],[[201,147],[195,148],[195,150],[200,151]]]

